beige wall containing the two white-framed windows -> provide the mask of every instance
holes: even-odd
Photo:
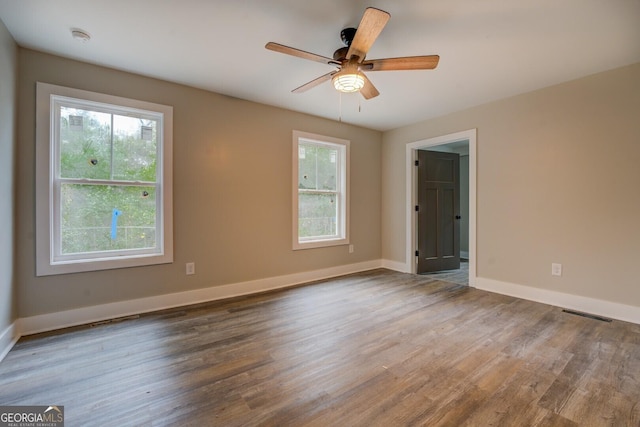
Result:
[[[31,50],[19,58],[20,317],[381,258],[380,132]],[[173,106],[173,264],[35,276],[36,81]],[[293,129],[351,140],[353,254],[346,246],[291,250]],[[189,261],[195,276],[185,275]]]

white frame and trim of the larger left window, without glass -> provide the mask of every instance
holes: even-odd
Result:
[[[102,252],[100,256],[60,256],[56,186],[59,147],[54,120],[60,101],[105,106],[119,111],[147,112],[159,117],[156,182],[156,241],[152,251]],[[58,120],[59,121],[59,120]],[[36,86],[36,275],[78,273],[173,262],[173,107],[38,82]]]

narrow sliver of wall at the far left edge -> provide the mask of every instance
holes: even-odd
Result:
[[[0,21],[0,336],[17,317],[13,270],[17,64],[16,44]]]

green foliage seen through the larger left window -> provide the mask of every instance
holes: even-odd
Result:
[[[60,255],[155,248],[158,119],[57,105]]]

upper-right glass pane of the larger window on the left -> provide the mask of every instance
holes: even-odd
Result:
[[[113,116],[113,179],[156,180],[157,121]]]

